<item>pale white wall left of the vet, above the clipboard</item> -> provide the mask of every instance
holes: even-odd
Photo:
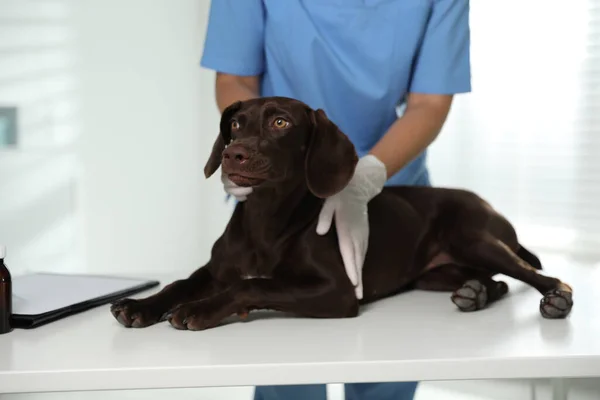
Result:
[[[208,4],[1,3],[0,104],[20,107],[22,144],[0,153],[0,242],[16,272],[207,259],[231,209],[202,173],[218,124]]]

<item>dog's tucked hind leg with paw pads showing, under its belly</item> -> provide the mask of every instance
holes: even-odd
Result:
[[[415,289],[453,292],[451,299],[461,311],[480,310],[508,293],[508,285],[493,280],[487,271],[444,264],[428,271]]]

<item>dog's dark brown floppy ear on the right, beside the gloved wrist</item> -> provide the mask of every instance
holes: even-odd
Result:
[[[309,111],[312,132],[305,159],[306,183],[317,197],[342,190],[352,179],[358,162],[354,145],[321,109]]]

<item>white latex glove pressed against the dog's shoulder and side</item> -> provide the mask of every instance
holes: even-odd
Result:
[[[319,235],[329,231],[335,216],[340,252],[357,299],[363,297],[362,267],[369,244],[367,203],[381,192],[386,181],[385,165],[373,155],[364,156],[348,185],[327,198],[319,214]]]

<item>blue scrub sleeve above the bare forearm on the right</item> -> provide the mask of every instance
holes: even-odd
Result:
[[[455,94],[471,91],[469,0],[433,0],[410,92]]]

